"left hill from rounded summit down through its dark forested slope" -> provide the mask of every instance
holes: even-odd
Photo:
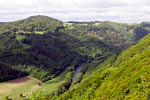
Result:
[[[74,70],[79,63],[104,59],[115,50],[95,37],[80,39],[59,31],[63,29],[61,21],[47,16],[1,24],[0,61],[46,81],[68,66]]]

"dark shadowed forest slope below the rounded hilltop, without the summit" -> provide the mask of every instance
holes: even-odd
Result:
[[[16,66],[18,70],[29,74],[33,73],[33,70],[27,71],[30,67],[37,73],[31,75],[42,81],[59,74],[69,64],[78,64],[88,59],[101,59],[113,52],[109,46],[94,38],[82,42],[73,36],[58,32],[43,35],[20,34],[24,36],[21,41],[15,37],[9,38],[15,34],[3,34],[0,61]]]

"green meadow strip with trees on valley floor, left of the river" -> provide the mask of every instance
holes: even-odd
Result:
[[[32,98],[41,99],[56,99],[60,94],[67,91],[72,82],[73,66],[69,66],[63,73],[56,78],[45,82],[36,92],[33,93]]]

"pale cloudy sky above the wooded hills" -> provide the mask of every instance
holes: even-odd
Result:
[[[0,0],[0,22],[33,15],[62,21],[150,22],[150,0]]]

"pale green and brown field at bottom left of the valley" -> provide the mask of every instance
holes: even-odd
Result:
[[[12,100],[16,100],[19,94],[28,95],[30,91],[37,88],[39,80],[30,76],[10,80],[0,83],[0,100],[4,100],[6,96]]]

